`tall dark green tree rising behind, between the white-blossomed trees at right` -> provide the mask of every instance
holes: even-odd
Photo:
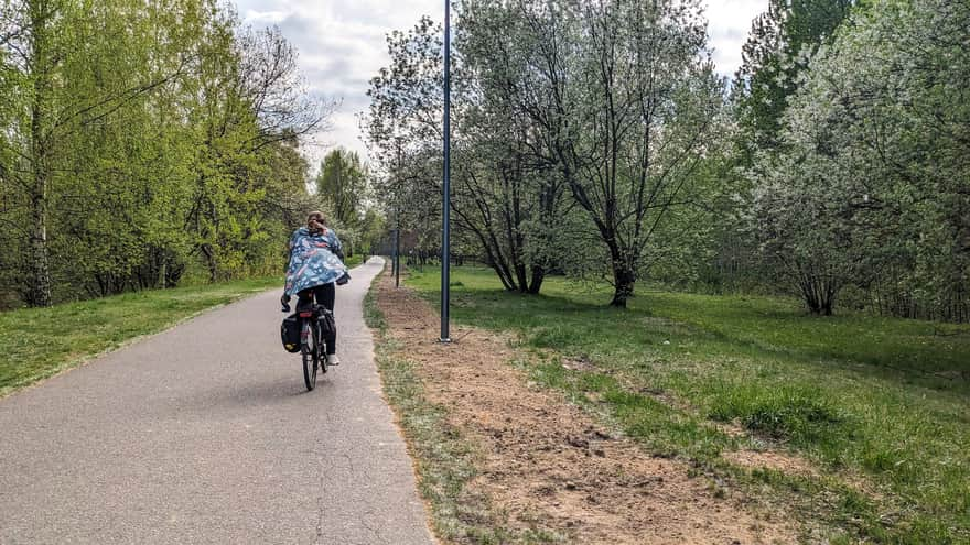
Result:
[[[732,192],[730,198],[719,200],[722,209],[716,218],[711,263],[712,272],[718,272],[712,283],[750,288],[757,284],[764,287],[770,277],[789,277],[793,269],[764,252],[767,247],[758,233],[765,226],[758,220],[765,219],[766,193],[755,184],[770,175],[759,168],[770,163],[766,154],[780,152],[784,116],[810,59],[820,46],[833,40],[856,3],[772,0],[752,22],[742,47],[743,62],[731,88],[733,127],[729,138],[734,150],[732,164],[722,175],[731,181]]]

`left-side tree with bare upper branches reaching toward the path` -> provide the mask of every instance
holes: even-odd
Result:
[[[278,29],[237,32],[237,25],[233,13],[209,21],[186,97],[198,143],[185,225],[211,281],[267,259],[255,254],[263,230],[256,210],[266,194],[256,184],[266,179],[258,175],[260,157],[267,146],[324,127],[333,109],[305,96],[297,52]]]

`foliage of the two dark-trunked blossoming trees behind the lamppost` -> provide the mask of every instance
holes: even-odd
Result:
[[[726,120],[699,4],[467,1],[456,26],[455,238],[509,291],[605,273],[624,305],[658,257],[685,258],[709,197],[693,174]],[[419,237],[439,225],[438,32],[388,36],[364,123],[388,216]]]

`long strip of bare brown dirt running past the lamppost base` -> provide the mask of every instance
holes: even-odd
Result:
[[[438,342],[439,317],[388,276],[377,303],[401,356],[416,363],[430,401],[482,453],[471,483],[507,513],[510,527],[589,544],[795,543],[790,519],[753,512],[739,492],[689,477],[677,460],[655,458],[601,427],[560,395],[509,366],[509,339],[454,328]],[[570,364],[580,364],[570,362]]]

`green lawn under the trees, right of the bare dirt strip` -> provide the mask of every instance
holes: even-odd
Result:
[[[970,327],[668,292],[642,292],[622,310],[606,306],[608,290],[564,279],[521,296],[488,270],[452,271],[456,323],[518,333],[540,355],[539,382],[608,413],[655,453],[784,490],[808,519],[841,528],[837,542],[970,543]],[[408,282],[436,304],[436,271]],[[582,364],[564,369],[570,359]],[[822,476],[744,473],[720,456],[767,445]]]

